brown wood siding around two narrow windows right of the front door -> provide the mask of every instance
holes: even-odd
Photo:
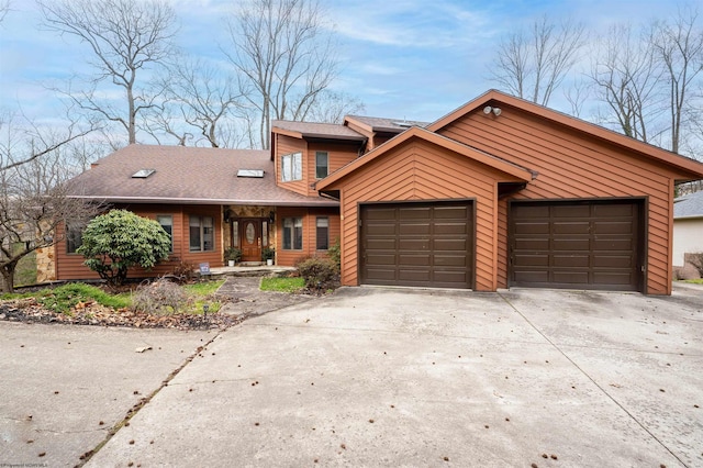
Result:
[[[316,250],[316,219],[325,216],[330,220],[330,245],[339,237],[339,210],[337,208],[291,208],[279,207],[276,212],[276,264],[292,267],[302,258],[326,255],[326,250]],[[302,218],[303,248],[300,250],[283,249],[283,218]]]

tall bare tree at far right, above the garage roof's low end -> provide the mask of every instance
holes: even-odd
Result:
[[[687,114],[698,110],[694,82],[703,70],[703,30],[698,25],[699,12],[691,7],[682,7],[672,24],[657,25],[654,47],[665,69],[669,94],[671,127],[671,151],[679,153]]]

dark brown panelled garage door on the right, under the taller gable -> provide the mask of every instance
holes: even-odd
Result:
[[[641,290],[638,201],[515,202],[511,286]]]

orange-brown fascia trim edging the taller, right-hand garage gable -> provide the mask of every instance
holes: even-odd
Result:
[[[680,174],[680,177],[677,178],[677,181],[690,181],[703,178],[703,164],[694,159],[678,155],[676,153],[671,153],[658,146],[640,142],[635,138],[631,138],[629,136],[625,136],[621,133],[602,127],[600,125],[573,118],[571,115],[567,115],[544,105],[535,104],[534,102],[529,102],[514,96],[505,94],[494,89],[483,93],[482,96],[479,96],[475,100],[469,101],[455,111],[433,122],[427,126],[427,130],[431,132],[438,132],[443,127],[456,122],[457,120],[461,119],[470,112],[476,111],[477,109],[484,109],[488,105],[491,105],[492,108],[500,108],[501,104],[520,109],[521,111],[529,113],[538,119],[544,119],[553,123],[563,125],[573,131],[584,133],[589,137],[609,142],[628,152],[635,153],[649,159],[654,159],[658,163],[662,163],[669,166],[676,172]]]

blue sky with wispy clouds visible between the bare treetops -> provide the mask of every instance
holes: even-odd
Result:
[[[21,105],[40,122],[58,119],[46,90],[86,69],[88,51],[72,37],[40,29],[32,0],[11,0],[0,24],[0,107]],[[222,18],[235,2],[172,0],[188,52],[221,59]],[[433,121],[494,88],[489,76],[500,38],[547,13],[582,21],[592,37],[609,25],[671,13],[672,0],[322,0],[337,32],[341,78],[366,114]],[[588,57],[584,57],[588,60]],[[560,96],[551,105],[559,108]]]

